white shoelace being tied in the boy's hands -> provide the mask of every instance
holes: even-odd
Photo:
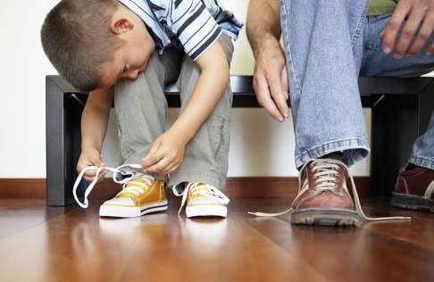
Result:
[[[88,208],[88,195],[90,192],[92,192],[92,189],[96,185],[96,181],[98,180],[98,176],[103,170],[109,170],[113,172],[113,181],[119,184],[122,184],[122,191],[126,191],[129,193],[132,193],[134,195],[140,195],[142,192],[134,187],[125,187],[127,182],[137,179],[137,178],[143,178],[146,181],[147,185],[152,184],[152,180],[154,178],[152,176],[146,175],[144,173],[136,172],[136,171],[129,171],[129,170],[122,170],[125,168],[129,169],[135,169],[135,170],[141,170],[142,166],[139,164],[124,164],[117,168],[110,168],[110,167],[96,167],[96,166],[88,166],[84,170],[81,170],[79,173],[79,176],[75,180],[74,187],[72,188],[72,194],[74,195],[74,199],[77,203],[79,203],[79,206],[82,208]],[[85,173],[88,170],[96,170],[95,178],[90,184],[88,185],[88,188],[86,188],[85,195],[84,195],[84,201],[83,203],[79,202],[79,197],[77,196],[77,187],[79,187],[79,183],[81,179],[84,177]]]

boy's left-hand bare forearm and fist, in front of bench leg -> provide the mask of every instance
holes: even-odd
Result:
[[[81,154],[77,164],[78,171],[91,165],[104,166],[101,160],[101,148],[112,104],[113,88],[95,90],[89,94],[88,102],[81,115]],[[105,171],[100,174],[99,181],[104,178],[104,175]],[[85,174],[85,179],[88,181],[92,181],[94,177],[94,171]]]

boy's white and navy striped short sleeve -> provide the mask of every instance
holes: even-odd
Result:
[[[221,28],[201,0],[172,0],[171,32],[196,61],[221,35]]]

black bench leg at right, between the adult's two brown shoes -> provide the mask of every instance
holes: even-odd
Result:
[[[372,194],[390,196],[414,140],[427,129],[434,105],[434,85],[419,95],[387,95],[372,108]]]

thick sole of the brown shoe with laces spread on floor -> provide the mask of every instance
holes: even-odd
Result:
[[[360,216],[355,211],[306,209],[293,211],[291,222],[293,224],[319,225],[319,226],[352,226],[360,222]]]

